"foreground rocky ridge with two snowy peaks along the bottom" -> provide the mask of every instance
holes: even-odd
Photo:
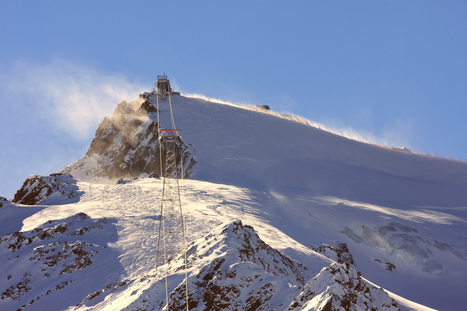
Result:
[[[167,310],[186,310],[187,287],[189,310],[298,311],[304,306],[309,309],[303,310],[316,311],[399,310],[385,291],[363,280],[348,264],[334,263],[311,279],[306,267],[271,248],[240,220],[199,238],[187,258],[187,283],[183,258],[177,257],[159,267],[157,275],[124,280],[115,292],[110,289],[117,283],[89,293],[76,309],[99,309],[112,299],[106,296],[139,293],[122,310],[165,310],[167,274],[171,283]]]

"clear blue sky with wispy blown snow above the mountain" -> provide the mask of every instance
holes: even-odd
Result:
[[[0,34],[8,199],[163,72],[185,93],[467,158],[466,1],[2,1]]]

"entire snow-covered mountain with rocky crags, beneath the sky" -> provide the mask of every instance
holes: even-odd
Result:
[[[256,107],[172,106],[190,310],[463,310],[466,163]],[[2,310],[161,310],[164,275],[184,310],[183,260],[155,273],[156,122],[153,97],[120,103],[85,157],[0,200]]]

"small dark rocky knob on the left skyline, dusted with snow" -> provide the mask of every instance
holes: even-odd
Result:
[[[25,205],[37,205],[45,200],[49,205],[73,203],[83,194],[76,185],[78,181],[66,173],[53,173],[49,176],[31,175],[11,201]],[[74,201],[63,199],[74,199]]]

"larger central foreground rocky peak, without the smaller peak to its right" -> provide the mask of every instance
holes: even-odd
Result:
[[[187,257],[192,271],[188,277],[190,310],[283,311],[310,277],[306,267],[271,248],[253,227],[240,220],[223,224],[198,239],[188,249]],[[183,259],[177,258],[161,269],[174,277],[184,269]],[[185,283],[182,278],[178,282],[169,293],[169,310],[186,310]],[[160,310],[165,304],[164,285],[156,278],[123,310]]]

